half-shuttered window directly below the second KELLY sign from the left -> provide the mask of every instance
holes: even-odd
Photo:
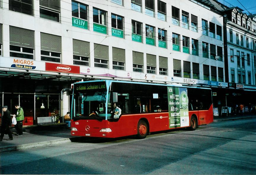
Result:
[[[112,47],[113,69],[125,70],[125,49]]]

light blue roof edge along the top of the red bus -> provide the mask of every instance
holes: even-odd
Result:
[[[131,84],[143,84],[143,85],[159,85],[159,86],[172,86],[172,87],[188,87],[188,88],[198,88],[198,89],[209,89],[207,87],[197,87],[197,86],[183,86],[183,85],[171,85],[171,84],[161,84],[161,83],[154,83],[154,82],[134,82],[134,81],[120,81],[120,80],[91,80],[91,81],[81,81],[81,82],[75,82],[75,84],[80,83],[87,83],[87,82],[103,82],[105,81],[106,84],[111,84],[112,82],[120,82],[120,83],[131,83]]]

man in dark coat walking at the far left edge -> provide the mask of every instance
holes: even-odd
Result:
[[[3,140],[4,133],[6,133],[6,132],[9,136],[9,139],[7,139],[7,140],[12,140],[12,133],[11,133],[10,128],[9,128],[9,126],[11,126],[11,124],[12,124],[11,113],[7,109],[7,106],[3,106],[3,111],[4,111],[4,114],[3,114],[2,119],[1,119],[0,141]]]

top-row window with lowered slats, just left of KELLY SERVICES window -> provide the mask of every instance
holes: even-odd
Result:
[[[40,18],[60,22],[60,0],[40,0]]]

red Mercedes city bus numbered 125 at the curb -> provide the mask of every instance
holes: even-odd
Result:
[[[116,138],[213,122],[209,88],[116,80],[73,86],[71,135]],[[117,112],[118,111],[118,112]]]

